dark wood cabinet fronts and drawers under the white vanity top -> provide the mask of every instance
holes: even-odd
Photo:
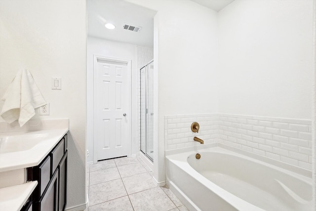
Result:
[[[30,211],[64,211],[67,202],[67,134],[39,166],[27,169],[27,180],[38,181]],[[28,210],[29,211],[29,210]]]

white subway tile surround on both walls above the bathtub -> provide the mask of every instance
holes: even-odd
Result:
[[[216,127],[216,130],[209,131],[209,126],[205,128],[202,122],[198,134],[192,132],[189,134],[188,129],[190,130],[192,122],[200,121],[198,116],[192,119],[188,117],[191,121],[186,125],[181,125],[184,121],[181,115],[165,116],[165,150],[199,144],[194,143],[193,140],[194,135],[197,135],[199,138],[206,139],[205,143],[219,142],[304,169],[312,169],[312,122],[310,120],[208,114],[205,119],[209,116],[216,119],[212,125],[213,128]],[[186,139],[187,142],[182,140],[180,138],[182,136],[189,140]],[[208,140],[210,136],[213,139]]]

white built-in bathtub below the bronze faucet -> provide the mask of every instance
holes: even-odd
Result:
[[[313,210],[311,171],[222,144],[198,148],[166,151],[166,184],[190,211]]]

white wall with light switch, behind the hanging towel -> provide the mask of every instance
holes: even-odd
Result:
[[[49,116],[33,119],[69,118],[67,207],[84,206],[85,0],[0,0],[0,46],[0,95],[26,68],[50,103]],[[51,89],[52,77],[62,78],[62,90]]]

